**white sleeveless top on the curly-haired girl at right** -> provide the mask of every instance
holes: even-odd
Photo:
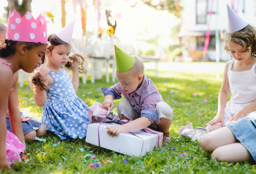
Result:
[[[256,100],[256,62],[250,70],[232,71],[233,60],[230,61],[227,70],[230,85],[230,101],[236,104],[250,103]]]

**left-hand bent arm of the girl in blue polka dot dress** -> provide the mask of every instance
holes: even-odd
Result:
[[[44,84],[46,86],[49,85],[49,78],[51,78],[51,75],[48,73],[51,71],[48,67],[46,67],[44,64],[42,64],[37,71],[41,74],[41,76],[44,78]],[[49,77],[47,78],[47,76]],[[38,106],[42,107],[46,103],[47,96],[46,96],[46,91],[41,90],[41,88],[36,88],[35,94],[34,94],[35,102]]]

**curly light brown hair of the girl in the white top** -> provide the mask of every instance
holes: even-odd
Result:
[[[250,28],[249,28],[250,27]],[[239,30],[238,32],[225,32],[224,36],[224,50],[230,54],[227,43],[239,44],[244,52],[248,52],[249,46],[252,46],[252,54],[256,55],[256,29],[249,25]]]

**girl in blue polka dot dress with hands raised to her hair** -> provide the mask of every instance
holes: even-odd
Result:
[[[77,136],[82,139],[86,136],[90,122],[88,106],[76,96],[76,91],[79,70],[80,73],[87,71],[82,64],[79,67],[79,57],[84,59],[82,55],[69,57],[71,37],[67,41],[61,37],[58,34],[49,35],[46,64],[42,64],[31,75],[31,87],[38,106],[44,106],[42,122],[47,132],[55,133],[61,139],[76,139]],[[64,66],[71,69],[71,79]]]

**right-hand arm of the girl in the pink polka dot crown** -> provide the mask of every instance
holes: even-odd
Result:
[[[13,90],[9,94],[8,99],[8,111],[9,111],[9,119],[10,124],[12,128],[12,133],[14,133],[20,141],[26,145],[24,135],[23,135],[23,129],[21,125],[21,119],[20,119],[20,110],[19,110],[19,97],[18,97],[18,73],[15,73],[15,83],[13,85]]]

